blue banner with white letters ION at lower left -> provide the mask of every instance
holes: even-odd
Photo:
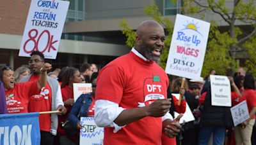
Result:
[[[39,113],[0,114],[0,145],[39,145]]]

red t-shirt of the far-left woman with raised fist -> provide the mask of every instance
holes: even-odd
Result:
[[[37,81],[16,83],[5,92],[8,113],[28,113],[29,96],[38,93]]]

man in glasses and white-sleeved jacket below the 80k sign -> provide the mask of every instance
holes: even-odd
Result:
[[[45,59],[41,52],[35,51],[30,54],[28,62],[32,74],[21,79],[20,82],[35,81],[42,76],[40,68],[44,66]],[[42,111],[60,111],[59,114],[65,114],[66,108],[61,95],[61,88],[56,79],[47,76],[47,84],[41,89],[40,93],[31,95],[28,111],[42,112]],[[57,134],[58,128],[58,114],[40,114],[40,144],[52,144],[54,142],[54,135]]]

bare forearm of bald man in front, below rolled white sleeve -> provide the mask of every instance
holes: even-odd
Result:
[[[140,120],[141,118],[148,116],[147,108],[148,107],[137,107],[133,109],[125,109],[118,115],[114,122],[122,127],[128,123]]]

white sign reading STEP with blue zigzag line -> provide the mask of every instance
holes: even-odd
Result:
[[[80,144],[103,144],[104,128],[97,127],[93,117],[81,117]]]

